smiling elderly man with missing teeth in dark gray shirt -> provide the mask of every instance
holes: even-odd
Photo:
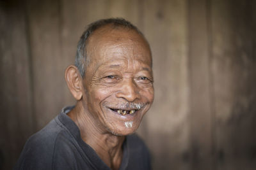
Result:
[[[150,169],[136,134],[154,99],[150,47],[120,18],[88,26],[65,72],[76,106],[28,139],[15,169]]]

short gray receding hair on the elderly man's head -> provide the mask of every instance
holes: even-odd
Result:
[[[86,67],[90,62],[90,57],[88,57],[88,53],[86,52],[86,45],[87,45],[86,42],[94,31],[96,31],[97,29],[105,25],[111,25],[113,26],[113,29],[115,29],[116,27],[124,27],[127,29],[132,29],[138,32],[138,34],[140,34],[141,36],[143,36],[143,34],[138,30],[136,26],[132,25],[131,22],[125,20],[124,18],[102,19],[102,20],[97,20],[96,22],[93,22],[92,24],[88,25],[86,31],[83,32],[83,35],[81,36],[78,42],[77,52],[76,52],[75,66],[79,70],[79,73],[81,74],[82,77],[84,77]]]

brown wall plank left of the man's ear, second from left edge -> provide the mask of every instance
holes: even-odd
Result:
[[[59,1],[27,1],[36,130],[60,113],[65,89]]]

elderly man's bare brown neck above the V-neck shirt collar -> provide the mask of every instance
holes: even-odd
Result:
[[[76,123],[83,141],[95,150],[100,159],[111,169],[119,169],[125,136],[115,136],[104,130],[93,115],[79,103],[67,115]]]

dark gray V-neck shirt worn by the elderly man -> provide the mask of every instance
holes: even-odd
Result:
[[[28,139],[14,169],[110,169],[81,139],[77,125],[63,108],[41,131]],[[150,169],[148,149],[136,134],[126,136],[120,169]]]

